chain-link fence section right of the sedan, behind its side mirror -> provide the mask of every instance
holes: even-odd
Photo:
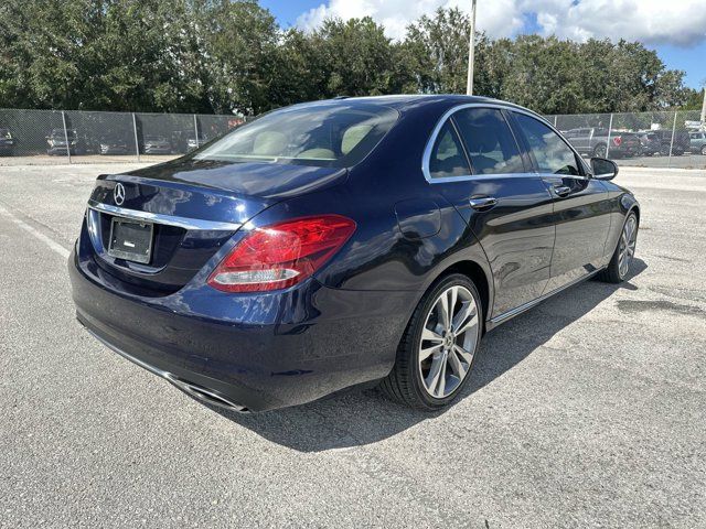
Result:
[[[620,165],[706,169],[706,122],[698,110],[545,117],[585,156]]]

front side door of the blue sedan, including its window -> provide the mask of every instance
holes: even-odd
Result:
[[[554,201],[556,241],[545,293],[576,281],[605,262],[610,229],[608,192],[587,173],[580,156],[547,123],[512,111],[537,175]]]

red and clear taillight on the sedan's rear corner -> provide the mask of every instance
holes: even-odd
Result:
[[[208,284],[224,292],[264,292],[297,284],[328,261],[355,231],[340,215],[303,217],[256,228],[216,267]]]

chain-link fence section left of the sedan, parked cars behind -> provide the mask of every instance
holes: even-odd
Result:
[[[0,164],[158,162],[244,121],[238,116],[0,109]]]

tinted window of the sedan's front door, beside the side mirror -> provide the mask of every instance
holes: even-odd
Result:
[[[556,132],[524,114],[515,112],[515,118],[541,173],[580,174],[574,151]]]

